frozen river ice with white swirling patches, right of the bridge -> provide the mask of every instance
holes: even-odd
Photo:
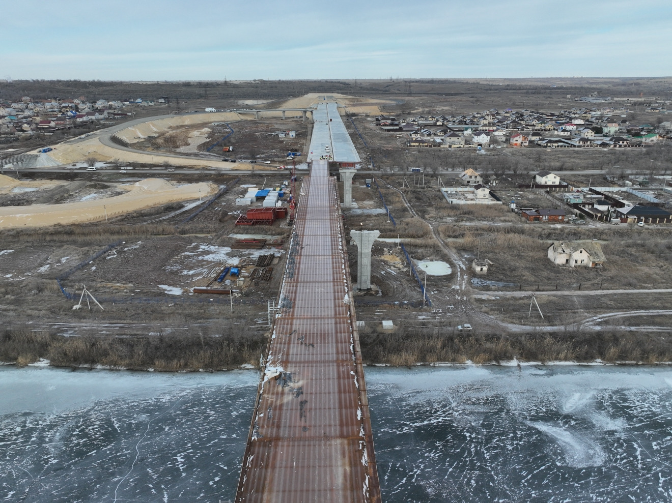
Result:
[[[369,368],[384,502],[672,500],[672,371]]]

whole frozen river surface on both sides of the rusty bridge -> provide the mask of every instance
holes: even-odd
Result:
[[[366,369],[383,501],[672,500],[672,370]],[[0,367],[1,502],[233,498],[257,373]]]

